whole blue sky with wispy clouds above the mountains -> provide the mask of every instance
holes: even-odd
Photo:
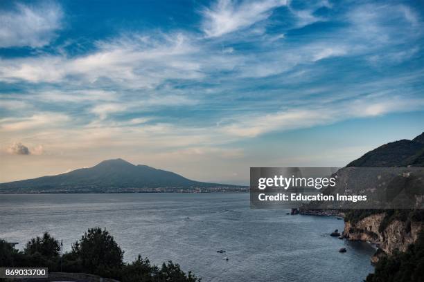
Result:
[[[424,131],[421,1],[0,1],[0,182],[111,158],[246,185]]]

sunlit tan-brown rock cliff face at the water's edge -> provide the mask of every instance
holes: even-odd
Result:
[[[421,221],[393,220],[380,232],[380,225],[386,214],[366,216],[357,223],[346,222],[343,236],[352,241],[368,241],[379,247],[378,252],[371,258],[377,263],[380,256],[393,254],[395,250],[405,252],[409,244],[414,243],[418,233],[424,227]]]

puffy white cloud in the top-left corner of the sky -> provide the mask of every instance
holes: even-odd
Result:
[[[1,10],[0,14],[0,47],[45,46],[62,26],[62,10],[54,3],[17,3],[14,10]]]

